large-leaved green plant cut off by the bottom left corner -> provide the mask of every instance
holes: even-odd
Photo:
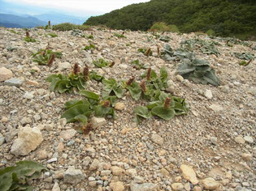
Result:
[[[47,168],[33,161],[20,161],[15,166],[2,168],[0,170],[1,191],[11,190],[33,190],[31,180],[41,177],[41,173]]]

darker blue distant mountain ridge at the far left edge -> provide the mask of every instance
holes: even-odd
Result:
[[[0,26],[6,28],[35,28],[45,26],[47,23],[33,16],[18,16],[11,14],[0,14]]]

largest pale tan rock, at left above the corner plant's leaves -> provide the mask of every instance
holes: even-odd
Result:
[[[11,153],[16,156],[28,155],[28,153],[34,151],[42,141],[43,138],[40,129],[25,126],[20,129],[18,138],[13,142]]]

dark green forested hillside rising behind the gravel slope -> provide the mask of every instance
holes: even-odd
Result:
[[[85,24],[145,31],[161,21],[175,24],[180,32],[212,29],[219,36],[248,37],[256,34],[255,12],[254,0],[151,0],[92,16]]]

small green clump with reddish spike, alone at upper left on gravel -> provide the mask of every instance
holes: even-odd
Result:
[[[62,57],[62,53],[54,52],[46,47],[46,49],[40,49],[37,53],[33,53],[32,56],[33,62],[37,62],[39,65],[51,66],[56,57]]]

